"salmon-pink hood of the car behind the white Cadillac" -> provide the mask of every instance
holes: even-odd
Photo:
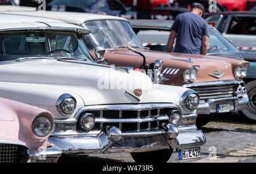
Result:
[[[205,56],[200,54],[182,54],[182,53],[166,53],[166,52],[158,52],[153,50],[143,50],[138,49],[144,56],[146,57],[146,61],[148,64],[154,62],[154,60],[161,59],[163,60],[163,70],[164,77],[170,79],[165,82],[164,84],[171,84],[176,86],[182,86],[183,82],[183,72],[188,69],[190,66],[200,66],[200,70],[197,73],[197,79],[194,82],[209,82],[209,81],[216,81],[216,80],[234,80],[234,69],[241,63],[245,63],[244,60],[237,60],[233,58],[226,58],[226,57],[218,57],[218,56]],[[116,54],[116,56],[115,56]],[[137,62],[142,63],[142,57],[138,54],[135,54],[127,49],[117,49],[112,50],[111,52],[107,52],[105,55],[106,58],[110,60],[119,59],[120,54],[123,55],[123,62],[125,60],[131,60],[134,63],[133,66],[137,64]],[[137,57],[137,60],[135,58]],[[138,59],[138,57],[140,59]],[[129,61],[127,61],[129,62]],[[167,70],[166,70],[167,69]],[[179,69],[177,73],[171,73],[168,71],[170,69]],[[166,70],[166,71],[164,71]],[[209,74],[214,74],[214,71],[220,72],[220,74],[224,75],[220,78],[213,77]]]

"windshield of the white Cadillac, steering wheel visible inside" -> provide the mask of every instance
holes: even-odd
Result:
[[[1,32],[0,41],[0,61],[37,56],[94,61],[83,41],[72,32]]]

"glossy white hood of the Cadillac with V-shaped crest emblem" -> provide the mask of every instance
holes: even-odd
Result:
[[[0,73],[5,74],[0,77],[0,82],[15,83],[15,87],[10,86],[10,90],[15,90],[11,88],[19,86],[23,89],[22,92],[27,94],[26,98],[32,92],[40,91],[45,96],[45,99],[40,99],[41,103],[47,103],[47,97],[50,95],[56,96],[55,101],[51,101],[52,104],[56,103],[61,93],[71,93],[80,96],[84,105],[121,103],[175,103],[179,105],[181,95],[188,90],[152,84],[147,75],[138,71],[128,72],[126,69],[112,69],[110,66],[78,61],[24,61],[1,65]],[[143,96],[139,96],[141,97],[139,101],[129,94],[130,92],[135,95],[136,89],[143,91]],[[173,95],[174,91],[175,95]],[[35,97],[38,95],[36,94]],[[25,103],[35,105],[31,97],[27,100],[29,102]]]

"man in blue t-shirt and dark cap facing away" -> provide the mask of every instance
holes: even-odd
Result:
[[[175,53],[207,54],[208,23],[201,17],[203,12],[201,3],[193,3],[190,12],[177,15],[172,24],[167,52],[171,52],[176,37]]]

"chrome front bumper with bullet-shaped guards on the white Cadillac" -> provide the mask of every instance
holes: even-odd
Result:
[[[191,126],[190,130],[163,123],[161,129],[121,132],[115,126],[106,126],[96,136],[51,136],[48,141],[63,154],[108,152],[146,152],[171,148],[199,147],[206,142],[203,131]]]

